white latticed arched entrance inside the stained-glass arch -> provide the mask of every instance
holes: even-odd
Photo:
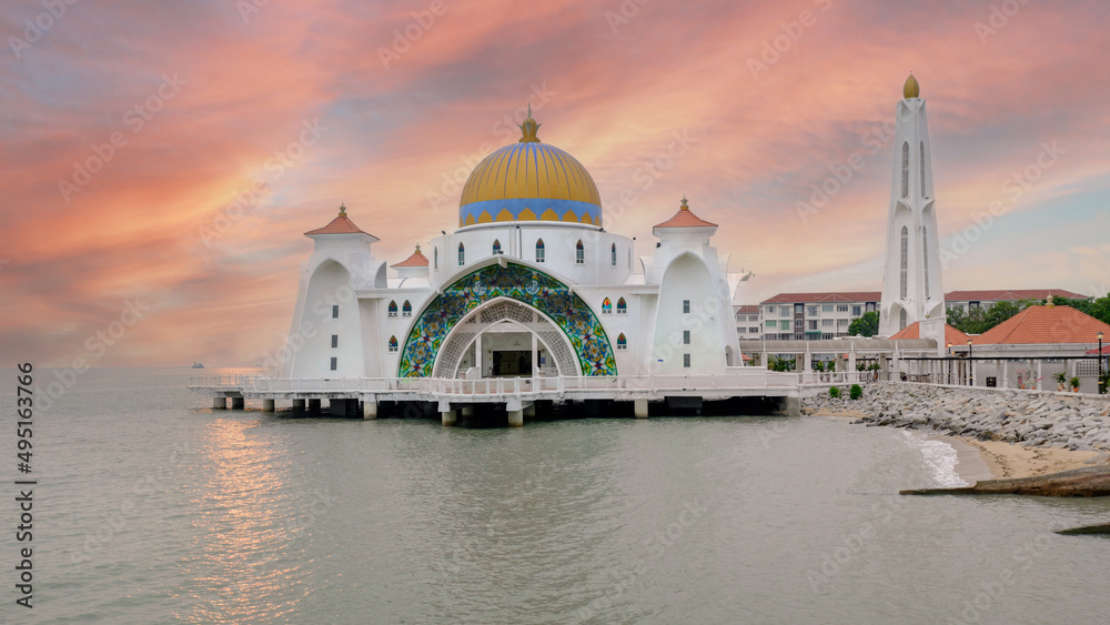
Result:
[[[476,371],[503,375],[578,375],[578,359],[563,332],[543,313],[509,299],[497,299],[455,324],[435,361],[436,377]]]

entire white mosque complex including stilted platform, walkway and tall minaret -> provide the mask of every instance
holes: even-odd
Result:
[[[848,381],[858,350],[876,351],[879,360],[894,350],[897,369],[900,356],[944,344],[930,147],[918,91],[910,77],[898,103],[901,149],[880,323],[888,336],[918,323],[920,339],[897,346],[765,341],[761,362],[768,352],[804,355],[801,377],[745,365],[733,301],[750,274],[729,273],[728,254],[712,244],[717,224],[683,198],[659,215],[656,241],[640,243],[649,253],[637,254],[634,238],[605,229],[586,168],[539,140],[529,107],[519,140],[488,154],[467,178],[457,230],[441,231],[391,264],[374,253],[380,240],[340,206],[330,223],[305,233],[314,250],[301,268],[280,372],[194,389],[212,393],[214,407],[225,407],[226,399],[242,407],[252,397],[268,411],[278,400],[312,411],[327,400],[333,414],[373,419],[380,405],[389,413],[404,404],[438,413],[444,424],[493,406],[509,425],[522,425],[526,415],[567,402],[592,414],[623,414],[627,406],[648,416],[700,413],[703,402],[735,411],[737,401],[755,399],[755,411],[797,414],[799,386],[819,382],[809,370],[813,350],[847,354],[840,376]],[[793,312],[783,324],[805,323],[799,311],[783,312]],[[751,414],[753,406],[745,410],[728,414]]]

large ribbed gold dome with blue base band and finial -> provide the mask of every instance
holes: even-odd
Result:
[[[521,124],[519,142],[482,160],[463,187],[458,225],[506,221],[602,224],[602,198],[586,168],[571,154],[542,143],[539,124]]]

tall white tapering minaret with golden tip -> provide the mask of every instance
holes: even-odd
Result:
[[[920,85],[910,75],[895,119],[894,182],[887,215],[879,335],[890,336],[915,321],[945,319],[940,239],[932,195],[932,150]]]

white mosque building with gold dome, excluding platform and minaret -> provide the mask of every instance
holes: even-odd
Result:
[[[387,266],[344,206],[306,232],[281,377],[725,374],[740,365],[731,301],[740,276],[684,198],[637,255],[608,232],[597,185],[528,117],[516,143],[471,172],[458,229]],[[390,275],[390,270],[395,275]],[[343,294],[347,301],[340,301]],[[354,294],[354,296],[351,296]]]

